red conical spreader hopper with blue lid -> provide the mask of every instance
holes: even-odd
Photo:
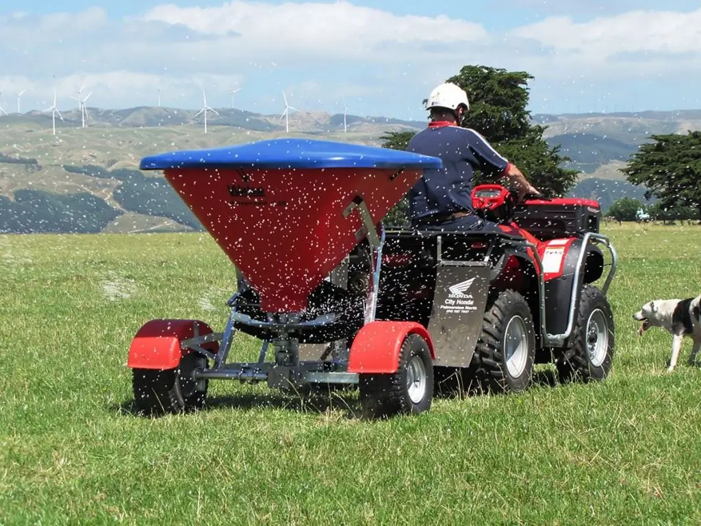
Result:
[[[271,313],[306,309],[309,293],[360,241],[358,198],[374,224],[440,159],[380,147],[278,139],[149,156],[164,170]],[[345,213],[344,213],[345,212]]]

